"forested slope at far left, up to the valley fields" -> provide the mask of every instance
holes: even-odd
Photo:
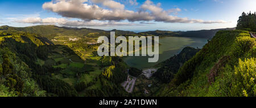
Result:
[[[37,58],[46,58],[44,46],[51,46],[40,38],[25,32],[0,32],[0,96],[47,96],[32,78],[51,70],[35,63]]]

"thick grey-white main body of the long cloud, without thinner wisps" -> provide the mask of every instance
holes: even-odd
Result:
[[[80,0],[77,0],[80,1]],[[68,8],[67,8],[68,7]],[[107,10],[97,5],[86,3],[74,3],[72,1],[59,0],[47,2],[43,8],[67,18],[79,18],[83,20],[153,20],[148,12],[134,12],[129,10]]]

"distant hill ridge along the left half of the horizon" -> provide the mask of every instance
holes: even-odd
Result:
[[[37,25],[32,27],[9,27],[7,25],[1,26],[0,31],[10,32],[29,32],[36,33],[43,37],[51,38],[51,36],[108,36],[110,31],[91,28],[73,28],[73,27],[57,27],[56,25]],[[136,34],[130,31],[120,31],[113,29],[119,35],[122,34]]]

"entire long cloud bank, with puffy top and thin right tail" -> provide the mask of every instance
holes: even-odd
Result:
[[[46,2],[43,8],[48,11],[56,12],[66,18],[79,18],[84,21],[104,20],[104,21],[161,21],[165,23],[225,23],[225,21],[204,21],[200,19],[180,18],[178,16],[169,15],[170,13],[177,15],[180,8],[172,8],[163,10],[161,3],[156,5],[150,1],[145,1],[139,11],[125,10],[125,6],[113,0],[91,0],[90,4],[86,0],[56,0]],[[108,7],[101,8],[97,4]]]

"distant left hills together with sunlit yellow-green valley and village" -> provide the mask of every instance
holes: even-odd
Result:
[[[110,31],[90,28],[69,28],[57,27],[55,25],[37,25],[32,27],[9,27],[1,26],[2,32],[28,32],[35,33],[40,36],[40,39],[55,45],[66,45],[80,58],[86,59],[92,55],[92,52],[97,50],[98,36],[110,36]],[[117,36],[130,36],[136,34],[129,31],[120,31],[113,29]]]

